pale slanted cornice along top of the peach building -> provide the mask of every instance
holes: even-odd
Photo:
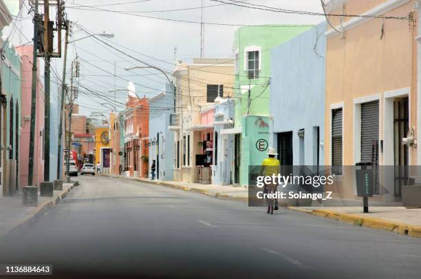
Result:
[[[376,7],[372,8],[371,10],[368,10],[367,12],[364,12],[361,15],[363,15],[363,16],[379,16],[381,14],[385,14],[386,12],[390,12],[391,10],[394,10],[394,9],[400,7],[400,6],[408,3],[409,1],[411,1],[411,0],[389,0],[389,1],[386,1],[385,3],[382,3],[379,6],[376,6]],[[373,19],[373,18],[372,17],[354,17],[354,18],[350,19],[349,21],[343,23],[342,28],[341,28],[341,25],[336,25],[335,28],[337,30],[342,29],[343,31],[346,31],[346,30],[354,28],[354,27],[356,27],[360,24],[363,24],[367,21],[370,21],[371,19]],[[325,35],[326,35],[327,39],[329,39],[330,37],[334,37],[338,34],[341,34],[341,33],[337,32],[334,29],[330,29],[330,30],[327,30],[325,32]]]

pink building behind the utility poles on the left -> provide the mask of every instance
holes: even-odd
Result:
[[[22,104],[21,104],[21,139],[19,143],[19,169],[20,187],[28,185],[28,163],[31,126],[31,95],[32,95],[32,45],[23,45],[17,48],[22,57]],[[38,86],[36,87],[36,120],[34,138],[34,185],[40,185],[44,180],[44,93],[43,85],[37,74]]]

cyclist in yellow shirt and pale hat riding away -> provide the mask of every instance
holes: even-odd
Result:
[[[276,150],[272,147],[268,150],[268,158],[264,159],[261,163],[261,174],[264,176],[272,176],[272,174],[278,175],[279,174],[279,166],[281,163],[279,160],[274,158],[275,155],[278,155]],[[277,192],[278,185],[276,184],[269,184],[263,187],[263,193],[266,194],[274,194]],[[267,213],[273,214],[273,209],[278,209],[278,200],[276,198],[266,198],[267,205]]]

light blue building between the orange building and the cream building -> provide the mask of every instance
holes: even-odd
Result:
[[[165,91],[149,99],[149,174],[155,160],[155,179],[173,180],[174,136],[168,127],[174,107],[174,94],[171,85]]]

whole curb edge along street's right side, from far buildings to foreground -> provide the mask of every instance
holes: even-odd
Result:
[[[180,185],[173,185],[171,183],[165,183],[165,182],[155,182],[151,180],[143,180],[140,178],[131,178],[131,177],[125,177],[125,176],[113,176],[110,174],[101,174],[102,176],[109,176],[114,178],[122,178],[126,180],[137,180],[142,183],[148,183],[153,185],[161,185],[165,187],[170,187],[173,189],[180,189],[186,192],[194,192],[198,194],[204,194],[206,196],[212,196],[215,198],[220,198],[223,200],[237,200],[241,202],[248,203],[248,197],[244,196],[231,196],[228,194],[222,194],[222,193],[216,193],[216,194],[210,194],[208,190],[205,189],[199,189],[199,188],[191,188],[186,186],[180,186]],[[414,226],[414,225],[408,225],[404,223],[394,223],[388,220],[378,219],[378,218],[371,218],[371,217],[365,217],[360,216],[357,214],[346,214],[341,212],[336,212],[330,209],[304,209],[301,207],[287,207],[288,209],[303,212],[305,214],[312,214],[314,216],[323,217],[326,219],[331,220],[338,220],[343,223],[348,223],[351,225],[356,225],[360,227],[368,227],[371,229],[382,229],[385,231],[391,231],[395,232],[396,234],[402,234],[405,236],[412,236],[415,238],[421,238],[421,226]]]

